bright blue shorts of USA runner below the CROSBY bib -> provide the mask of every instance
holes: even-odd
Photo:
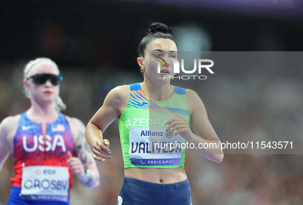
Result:
[[[69,196],[68,202],[62,201],[28,201],[23,200],[19,193],[21,192],[20,187],[12,187],[11,193],[7,202],[7,205],[69,205]]]

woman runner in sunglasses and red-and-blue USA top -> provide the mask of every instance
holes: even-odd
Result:
[[[66,107],[59,97],[62,79],[51,59],[31,60],[23,81],[31,107],[0,124],[0,170],[10,153],[14,158],[9,205],[69,204],[72,173],[86,187],[99,185],[83,122],[59,112]]]

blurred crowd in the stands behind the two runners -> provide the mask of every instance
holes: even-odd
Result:
[[[0,120],[26,111],[29,100],[23,93],[26,61],[0,65]],[[142,81],[137,68],[124,72],[118,68],[61,68],[64,76],[60,96],[67,105],[64,114],[85,124],[102,106],[106,94],[115,86]],[[296,75],[210,76],[193,87],[204,101],[208,117],[219,138],[275,137],[300,139],[303,133],[303,83]],[[172,83],[174,84],[174,83]],[[186,84],[185,84],[186,85]],[[123,158],[117,121],[104,133],[110,140],[113,158],[97,162],[100,186],[85,188],[74,177],[71,204],[115,205],[123,183]],[[2,143],[2,142],[0,142]],[[299,154],[226,154],[223,162],[209,161],[188,150],[185,168],[194,205],[299,205],[303,204],[303,161]],[[14,175],[12,157],[0,175],[0,205],[6,204]]]

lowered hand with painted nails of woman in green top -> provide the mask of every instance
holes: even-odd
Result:
[[[105,161],[105,158],[112,158],[110,155],[112,155],[112,153],[109,150],[109,140],[102,139],[96,141],[95,145],[93,146],[94,159],[98,161]]]

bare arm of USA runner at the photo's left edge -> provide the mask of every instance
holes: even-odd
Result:
[[[10,154],[9,144],[7,141],[10,118],[11,117],[5,118],[0,124],[0,171]]]

